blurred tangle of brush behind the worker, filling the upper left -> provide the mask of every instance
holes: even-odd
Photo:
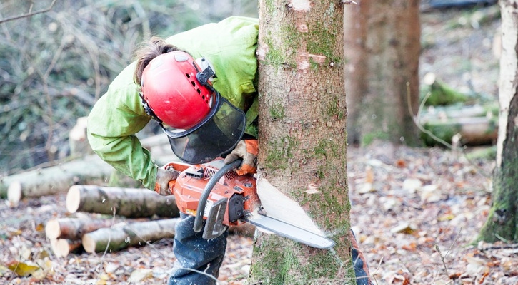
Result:
[[[0,19],[31,4],[36,11],[51,0],[2,1]],[[66,157],[76,118],[89,114],[142,39],[231,14],[256,16],[256,1],[59,1],[51,11],[2,24],[0,174]]]

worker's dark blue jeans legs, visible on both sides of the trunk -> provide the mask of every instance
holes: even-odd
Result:
[[[176,223],[173,252],[176,257],[169,285],[214,285],[219,274],[226,250],[227,230],[216,239],[204,239],[203,231],[194,232],[194,216],[180,214]],[[359,251],[354,234],[352,237],[352,258],[357,285],[370,285],[369,269],[362,252]],[[193,271],[192,269],[196,270]],[[199,272],[203,273],[199,273]],[[209,276],[211,275],[211,276]]]

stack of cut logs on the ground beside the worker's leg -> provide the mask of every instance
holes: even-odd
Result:
[[[74,185],[66,195],[66,209],[70,213],[99,213],[113,218],[51,219],[45,233],[57,257],[83,249],[89,253],[118,251],[174,237],[174,225],[179,219],[174,196],[164,197],[145,189]],[[134,222],[115,223],[116,215],[133,218]]]

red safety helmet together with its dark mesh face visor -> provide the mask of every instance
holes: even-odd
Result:
[[[243,110],[212,88],[210,64],[183,51],[161,54],[144,68],[139,95],[169,138],[174,154],[197,164],[234,150],[246,127]],[[164,123],[171,128],[164,127]]]

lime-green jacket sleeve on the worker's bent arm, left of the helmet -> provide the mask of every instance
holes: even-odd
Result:
[[[88,117],[88,140],[102,160],[154,190],[158,166],[135,136],[150,118],[133,83],[134,68],[135,63],[126,67],[94,105]]]

